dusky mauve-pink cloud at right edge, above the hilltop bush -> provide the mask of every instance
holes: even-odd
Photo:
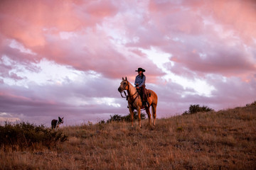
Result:
[[[205,52],[183,52],[183,55],[174,56],[171,61],[176,62],[176,66],[169,67],[172,72],[177,72],[183,67],[193,72],[202,72],[204,74],[215,73],[223,76],[242,76],[245,73],[255,72],[254,62],[246,58],[248,55],[243,47],[240,49],[227,46],[213,47],[213,49],[203,49]],[[191,48],[192,50],[192,48]],[[206,55],[209,52],[209,55]],[[201,55],[204,54],[204,57]],[[184,71],[184,70],[183,70]],[[181,72],[182,73],[182,72]]]

